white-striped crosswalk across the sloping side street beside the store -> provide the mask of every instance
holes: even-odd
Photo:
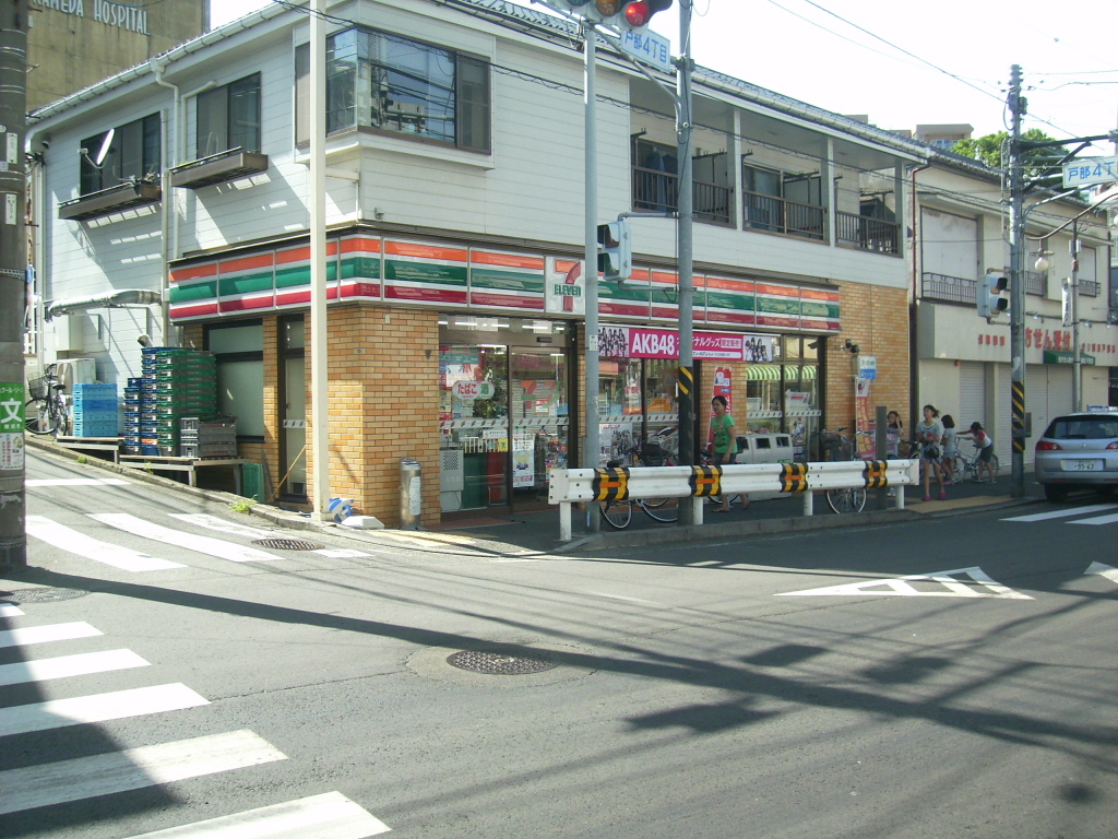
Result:
[[[91,521],[91,527],[94,526],[93,522],[107,526],[121,531],[122,535],[138,537],[144,546],[151,545],[152,549],[155,549],[155,545],[170,545],[180,550],[191,552],[192,555],[231,563],[271,563],[283,558],[278,554],[238,541],[238,539],[274,537],[274,531],[226,521],[210,515],[164,515],[167,524],[140,518],[127,512],[89,512],[85,513],[84,518]],[[148,550],[127,547],[115,539],[97,538],[89,532],[84,532],[76,527],[70,527],[46,516],[28,516],[26,522],[28,536],[74,556],[120,571],[139,574],[187,567],[182,562],[169,559]],[[183,529],[181,525],[217,531],[225,538],[202,536]],[[104,528],[96,529],[98,534],[104,530]],[[125,537],[122,536],[122,538]],[[307,553],[331,558],[372,556],[368,552],[352,548],[315,548]],[[181,558],[180,554],[176,554],[176,556]]]

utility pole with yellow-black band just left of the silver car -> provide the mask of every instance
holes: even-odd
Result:
[[[1024,169],[1021,159],[1021,117],[1027,103],[1021,96],[1021,65],[1010,69],[1010,98],[1012,120],[1010,133],[1010,355],[1012,358],[1013,402],[1013,473],[1010,494],[1025,494],[1025,283],[1022,273],[1025,234]]]

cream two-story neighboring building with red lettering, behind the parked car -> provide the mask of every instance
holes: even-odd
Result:
[[[1008,276],[1006,195],[999,173],[969,158],[932,152],[929,163],[911,176],[918,206],[912,413],[919,417],[920,406],[930,403],[951,414],[960,428],[982,422],[1002,463],[1008,465],[1010,318],[987,323],[976,311],[976,292],[987,268]],[[1110,326],[1106,213],[1090,210],[1090,202],[1077,198],[1051,200],[1057,195],[1034,190],[1025,200],[1025,412],[1031,418],[1026,463],[1032,462],[1033,443],[1049,418],[1074,409],[1077,338],[1081,407],[1109,404],[1109,383],[1118,367],[1118,332]],[[1074,317],[1064,312],[1073,230],[1080,243]],[[1046,267],[1036,265],[1042,252]]]

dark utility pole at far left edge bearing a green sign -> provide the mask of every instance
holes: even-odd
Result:
[[[27,0],[0,0],[0,573],[27,568]]]

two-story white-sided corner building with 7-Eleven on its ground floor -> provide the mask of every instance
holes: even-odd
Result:
[[[500,0],[329,12],[325,102],[305,10],[276,4],[31,115],[37,360],[92,357],[123,385],[142,333],[215,352],[241,455],[306,503],[324,107],[331,493],[392,526],[413,456],[427,525],[538,503],[584,433],[578,34]],[[598,221],[673,210],[673,102],[598,55]],[[872,402],[904,405],[906,172],[926,147],[701,68],[694,97],[700,408],[717,378],[742,430],[853,426],[850,345],[877,359]],[[599,284],[603,456],[675,424],[675,223],[633,230],[633,279]]]

